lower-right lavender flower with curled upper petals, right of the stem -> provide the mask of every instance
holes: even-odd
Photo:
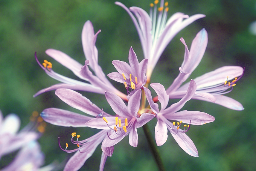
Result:
[[[157,93],[158,101],[161,104],[161,110],[159,111],[158,104],[154,103],[152,100],[150,90],[144,87],[146,98],[149,102],[151,110],[156,114],[157,117],[157,124],[155,126],[155,141],[157,145],[160,146],[166,142],[168,138],[167,132],[169,130],[176,142],[184,151],[186,151],[187,154],[198,157],[197,148],[185,132],[189,130],[190,124],[202,125],[214,121],[215,118],[207,113],[199,111],[179,111],[184,104],[194,96],[197,89],[195,81],[191,80],[184,97],[179,102],[172,104],[168,108],[166,107],[169,102],[169,96],[167,95],[162,84],[151,83],[150,86]],[[173,122],[169,120],[172,120]],[[181,126],[181,123],[186,124]],[[184,129],[182,129],[182,127],[184,127]]]

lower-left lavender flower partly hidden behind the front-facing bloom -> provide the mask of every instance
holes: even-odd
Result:
[[[58,125],[58,126],[72,126],[72,127],[87,127],[85,124],[87,121],[95,117],[109,117],[111,115],[105,113],[103,110],[98,108],[95,104],[93,104],[89,99],[82,96],[80,93],[75,92],[70,89],[57,89],[55,94],[65,103],[70,105],[73,108],[81,110],[82,112],[91,115],[81,115],[78,113],[73,113],[66,110],[61,110],[57,108],[47,108],[41,113],[41,117],[44,121]],[[59,138],[59,147],[66,151],[67,153],[76,153],[69,159],[66,163],[64,171],[76,171],[80,169],[86,160],[93,154],[96,147],[103,141],[103,139],[107,136],[109,130],[102,130],[95,135],[84,139],[82,141],[78,141],[81,137],[80,135],[76,135],[76,133],[72,133],[71,142],[72,144],[76,144],[78,148],[74,150],[67,150],[69,145],[66,143],[66,148],[61,147],[61,142]],[[77,136],[76,140],[73,140],[73,137]],[[100,171],[103,171],[105,161],[107,160],[107,156],[111,156],[113,154],[114,147],[102,148],[102,159],[100,164]]]

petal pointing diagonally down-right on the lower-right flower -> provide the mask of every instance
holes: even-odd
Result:
[[[197,147],[195,147],[194,142],[186,135],[186,133],[178,132],[177,134],[172,133],[175,141],[180,145],[180,147],[186,151],[187,154],[193,157],[198,157]]]

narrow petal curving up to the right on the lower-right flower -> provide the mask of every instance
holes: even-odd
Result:
[[[191,80],[186,95],[179,102],[172,104],[169,108],[161,111],[161,113],[164,115],[179,111],[184,106],[184,104],[195,95],[196,89],[197,85],[195,84],[195,81]]]

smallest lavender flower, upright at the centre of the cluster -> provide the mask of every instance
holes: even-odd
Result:
[[[108,74],[108,77],[119,83],[124,83],[127,94],[132,95],[136,90],[139,90],[146,84],[147,76],[145,74],[148,59],[143,59],[139,63],[132,47],[130,48],[128,58],[130,65],[123,61],[113,60],[112,63],[118,72],[112,72]]]

